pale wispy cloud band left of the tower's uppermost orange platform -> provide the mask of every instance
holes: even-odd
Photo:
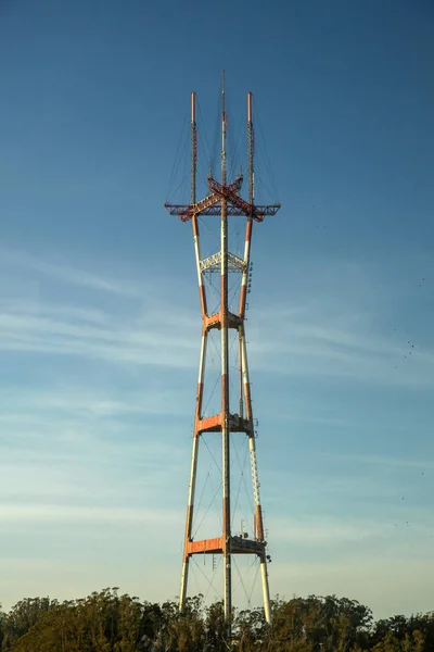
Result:
[[[114,363],[191,367],[197,359],[197,337],[182,318],[162,312],[144,316],[66,309],[63,315],[40,303],[3,310],[0,349],[78,355]],[[98,321],[95,319],[98,317]],[[200,327],[197,328],[200,333]],[[170,336],[169,336],[170,333]]]

